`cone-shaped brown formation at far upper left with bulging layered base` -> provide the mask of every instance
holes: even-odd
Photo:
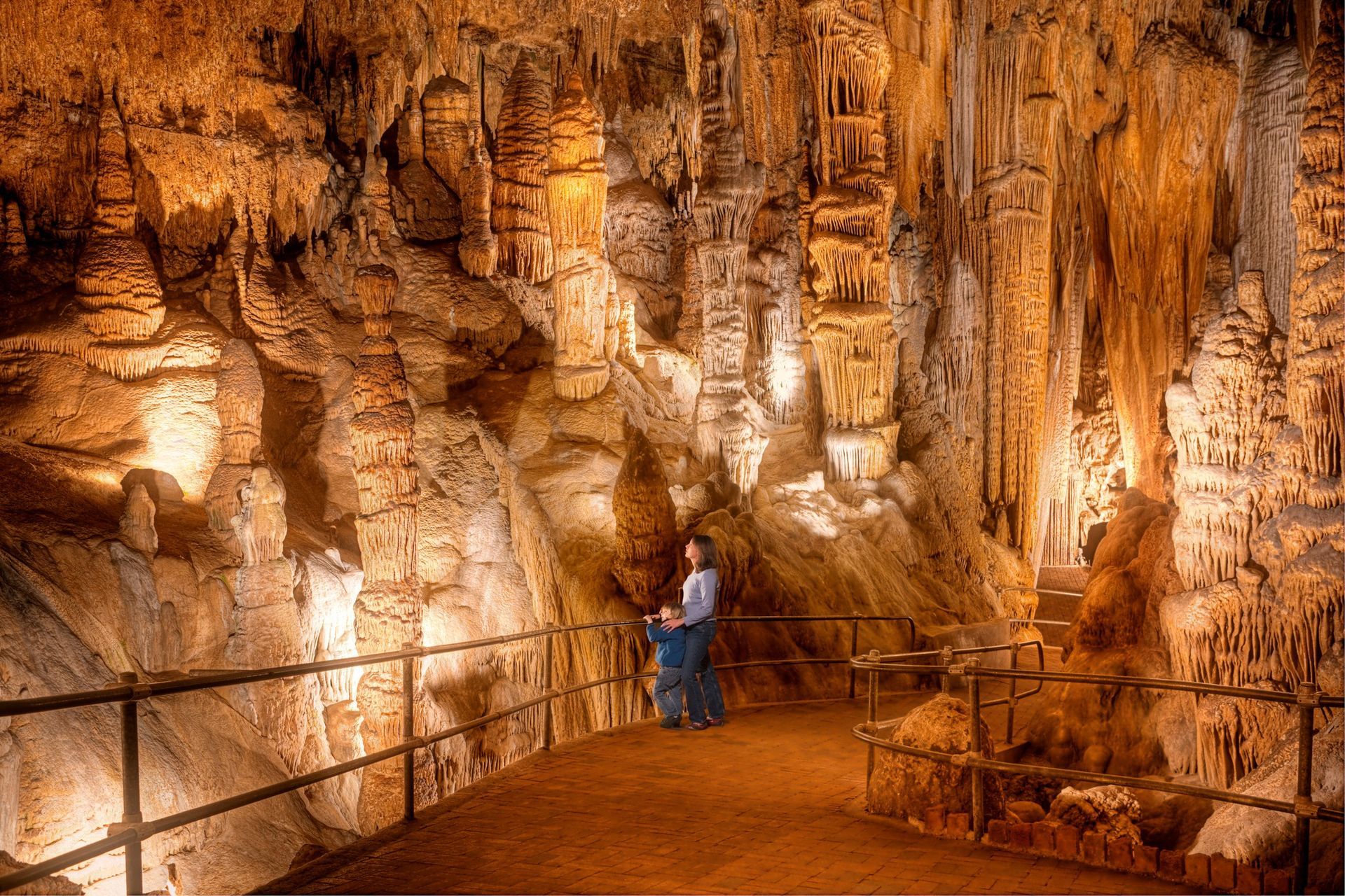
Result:
[[[164,320],[163,289],[134,236],[136,200],[126,136],[112,97],[98,122],[94,232],[75,265],[75,296],[89,332],[110,343],[145,340]]]

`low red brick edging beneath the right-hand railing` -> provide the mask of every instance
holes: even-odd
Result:
[[[971,817],[964,811],[951,813],[947,806],[927,809],[921,830],[932,837],[972,838]],[[1216,892],[1271,896],[1290,893],[1294,888],[1294,873],[1283,868],[1260,868],[1227,856],[1146,846],[1130,837],[1081,832],[1073,825],[1054,821],[1009,822],[993,818],[986,823],[986,834],[981,840],[1010,852],[1077,861]]]

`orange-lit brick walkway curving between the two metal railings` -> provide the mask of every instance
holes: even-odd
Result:
[[[592,735],[258,892],[1198,892],[866,817],[865,750],[849,733],[863,712],[730,708],[726,727],[705,732],[644,721]],[[884,699],[881,715],[902,712]]]

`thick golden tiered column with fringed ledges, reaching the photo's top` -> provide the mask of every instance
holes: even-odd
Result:
[[[892,466],[897,334],[888,305],[884,90],[892,71],[880,9],[814,0],[802,9],[818,116],[818,188],[810,206],[808,334],[818,359],[829,476],[878,478]]]

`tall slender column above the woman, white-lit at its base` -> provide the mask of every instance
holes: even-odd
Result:
[[[693,450],[712,466],[722,463],[742,494],[751,496],[767,439],[753,426],[746,394],[746,258],[765,171],[744,154],[737,38],[724,5],[707,3],[702,24],[702,177],[693,214],[699,238],[703,373]]]

